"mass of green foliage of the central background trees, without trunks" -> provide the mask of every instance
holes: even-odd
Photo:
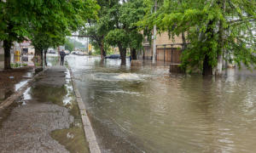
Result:
[[[99,20],[90,20],[90,26],[82,31],[90,36],[92,44],[103,50],[108,50],[109,45],[118,46],[121,53],[126,48],[143,48],[143,33],[137,27],[145,14],[143,0],[97,2],[101,6]]]

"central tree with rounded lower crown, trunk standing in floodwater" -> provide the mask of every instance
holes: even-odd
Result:
[[[145,14],[144,4],[142,0],[111,2],[107,14],[102,17],[108,30],[105,40],[112,46],[118,46],[121,65],[125,65],[127,48],[142,48],[143,34],[137,27],[137,21]]]

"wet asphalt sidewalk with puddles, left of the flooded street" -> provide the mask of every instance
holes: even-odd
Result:
[[[0,112],[1,152],[89,152],[69,71],[44,71]]]

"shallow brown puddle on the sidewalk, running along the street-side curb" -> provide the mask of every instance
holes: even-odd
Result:
[[[89,144],[84,137],[84,128],[79,112],[79,106],[76,102],[73,86],[69,76],[69,71],[66,71],[66,83],[61,87],[44,86],[38,83],[26,91],[26,99],[38,99],[40,102],[54,103],[68,109],[71,116],[74,117],[74,122],[67,129],[57,129],[50,133],[50,136],[64,145],[67,150],[75,153],[90,152]],[[40,80],[38,80],[40,82]],[[31,96],[29,95],[31,91]]]

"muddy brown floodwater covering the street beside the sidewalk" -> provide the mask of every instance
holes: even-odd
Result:
[[[255,152],[255,71],[222,78],[70,56],[103,152]],[[129,65],[129,64],[128,64]]]

